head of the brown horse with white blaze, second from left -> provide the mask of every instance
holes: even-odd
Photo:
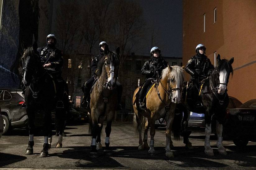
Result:
[[[116,87],[120,64],[118,54],[119,48],[117,48],[116,52],[109,51],[105,54],[104,60],[101,61],[103,63],[101,76],[105,76],[106,87],[109,90],[113,90]]]

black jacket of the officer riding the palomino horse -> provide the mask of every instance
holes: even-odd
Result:
[[[167,67],[167,62],[159,58],[154,60],[152,57],[144,63],[141,69],[141,74],[146,76],[146,79],[157,78],[157,72],[161,76],[162,70]]]

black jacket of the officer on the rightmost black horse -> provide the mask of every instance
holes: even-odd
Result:
[[[185,66],[185,70],[193,78],[195,77],[207,77],[214,69],[210,59],[206,55],[199,56],[198,54],[191,57]],[[204,77],[204,78],[205,78]]]

